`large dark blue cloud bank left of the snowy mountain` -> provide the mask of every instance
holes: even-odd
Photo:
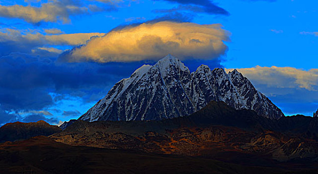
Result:
[[[46,60],[26,54],[0,57],[0,106],[16,112],[41,110],[58,100],[50,92],[61,94],[60,99],[70,94],[94,101],[106,94],[105,88],[129,77],[142,64],[57,64],[53,58]]]

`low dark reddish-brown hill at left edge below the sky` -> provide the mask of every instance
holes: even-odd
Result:
[[[0,142],[24,140],[39,135],[48,136],[60,131],[61,128],[45,121],[7,123],[0,127]]]

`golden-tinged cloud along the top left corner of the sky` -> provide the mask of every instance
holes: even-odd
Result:
[[[116,10],[116,4],[120,0],[99,0],[107,2],[104,5],[96,6],[89,1],[79,0],[48,0],[40,3],[40,6],[0,5],[0,17],[20,18],[26,22],[37,24],[40,22],[63,22],[69,23],[70,16],[89,14],[98,11]]]

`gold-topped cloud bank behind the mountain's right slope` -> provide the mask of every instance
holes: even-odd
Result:
[[[232,71],[233,69],[226,69]],[[237,69],[286,115],[312,115],[318,103],[318,69],[260,67]]]

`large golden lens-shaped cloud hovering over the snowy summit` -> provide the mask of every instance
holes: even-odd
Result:
[[[192,40],[200,42],[192,42]],[[220,24],[157,22],[126,26],[61,55],[67,62],[132,62],[173,54],[181,60],[216,59],[225,54],[229,32]]]

